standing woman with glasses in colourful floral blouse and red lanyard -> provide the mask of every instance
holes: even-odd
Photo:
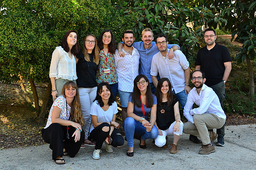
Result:
[[[98,47],[100,49],[100,64],[97,71],[97,82],[107,82],[116,99],[118,88],[116,67],[114,62],[114,53],[116,51],[116,41],[114,34],[110,29],[105,29],[98,39]]]

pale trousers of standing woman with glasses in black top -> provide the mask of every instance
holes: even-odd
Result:
[[[90,130],[90,125],[91,125],[91,105],[93,101],[96,98],[97,94],[97,87],[93,88],[78,88],[79,92],[79,98],[80,98],[80,103],[81,103],[81,108],[82,108],[82,113],[83,113],[83,118],[84,118],[84,126],[82,127],[84,129],[85,137],[84,139],[88,139],[88,133]]]

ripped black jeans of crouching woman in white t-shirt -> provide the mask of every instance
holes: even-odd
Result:
[[[105,132],[102,130],[103,127],[109,127],[109,131]],[[110,133],[110,125],[106,122],[101,123],[100,125],[98,125],[97,127],[95,127],[95,129],[93,129],[88,137],[89,140],[93,139],[94,141],[96,141],[95,144],[95,149],[101,149],[103,142],[105,141],[105,139],[108,137]],[[120,147],[122,145],[124,145],[124,138],[122,137],[122,135],[120,134],[120,132],[114,128],[112,134],[111,134],[111,138],[112,138],[112,143],[111,145],[113,147]]]

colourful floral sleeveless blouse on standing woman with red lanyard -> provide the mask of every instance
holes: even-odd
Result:
[[[105,73],[104,73],[105,72]],[[97,83],[107,82],[108,84],[117,83],[114,56],[108,53],[108,58],[103,50],[100,51],[100,64],[96,76]]]

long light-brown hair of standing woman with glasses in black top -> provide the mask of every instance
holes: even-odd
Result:
[[[86,46],[85,46],[85,44],[86,44],[85,41],[86,41],[87,37],[89,37],[89,36],[92,36],[95,39],[95,45],[94,45],[94,48],[92,50],[92,55],[93,55],[93,62],[98,65],[99,62],[100,62],[100,56],[99,56],[100,49],[97,45],[97,39],[96,39],[95,35],[93,35],[93,34],[88,34],[88,35],[86,35],[86,37],[84,37],[84,42],[83,42],[84,44],[83,44],[83,51],[82,51],[84,53],[84,59],[88,62],[90,61],[90,57],[87,53],[87,49],[86,49]]]

